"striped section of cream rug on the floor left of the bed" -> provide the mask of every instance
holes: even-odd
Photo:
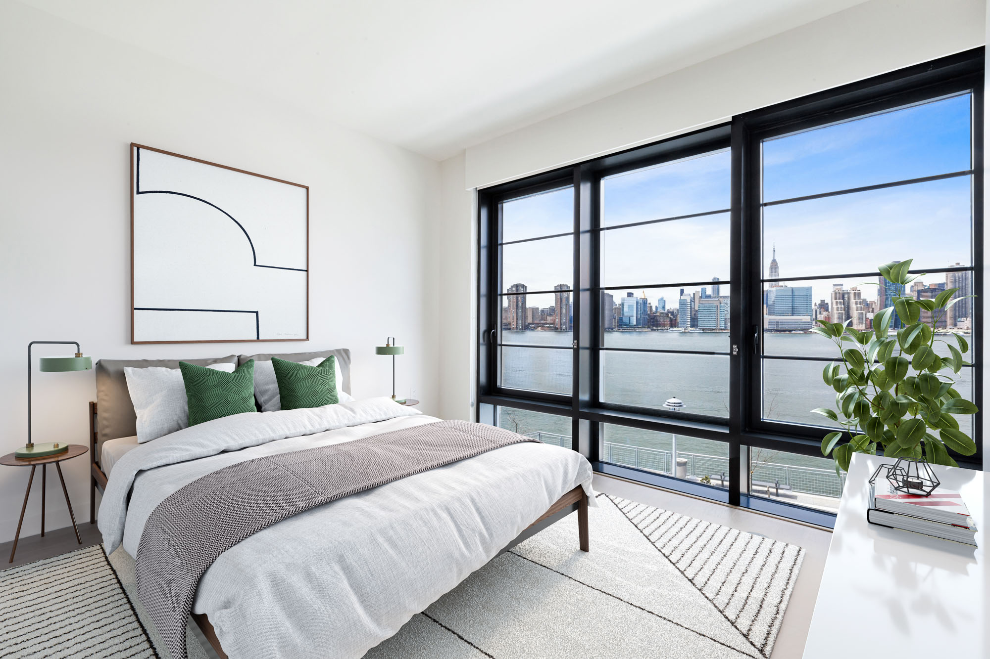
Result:
[[[0,572],[0,656],[158,657],[99,545]]]

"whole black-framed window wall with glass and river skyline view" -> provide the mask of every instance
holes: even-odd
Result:
[[[982,70],[962,53],[480,191],[479,419],[829,523],[843,474],[811,410],[836,355],[810,329],[981,291]],[[926,274],[898,290],[878,265],[907,258]],[[973,346],[972,400],[981,310],[936,314]]]

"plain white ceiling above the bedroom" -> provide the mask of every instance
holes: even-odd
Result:
[[[435,159],[863,0],[24,0]]]

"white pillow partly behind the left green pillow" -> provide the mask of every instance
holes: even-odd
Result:
[[[237,364],[210,364],[207,368],[233,373]],[[139,443],[189,425],[189,399],[186,398],[181,370],[161,366],[125,366],[124,376],[134,411],[138,413]]]

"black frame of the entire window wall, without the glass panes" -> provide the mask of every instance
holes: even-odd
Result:
[[[476,414],[481,406],[512,407],[569,417],[572,448],[583,453],[596,471],[631,478],[735,506],[799,518],[832,526],[835,515],[771,502],[749,494],[748,469],[743,465],[750,447],[822,457],[827,430],[805,424],[762,420],[761,348],[762,275],[760,213],[760,141],[823,124],[832,124],[901,107],[959,91],[970,91],[972,106],[973,392],[982,401],[983,291],[983,71],[984,48],[978,47],[907,67],[835,89],[812,94],[733,117],[731,122],[686,133],[668,140],[630,148],[525,179],[478,191],[477,252],[477,380]],[[671,413],[603,403],[600,365],[603,351],[600,286],[601,180],[615,173],[640,169],[728,146],[731,149],[731,208],[729,279],[730,353],[729,417],[727,419]],[[574,192],[574,258],[571,309],[573,323],[572,393],[570,396],[504,389],[498,386],[498,345],[501,297],[498,268],[502,201],[563,185]],[[867,186],[869,187],[869,186]],[[604,230],[609,231],[609,230]],[[936,272],[936,270],[929,270]],[[859,276],[862,273],[851,273]],[[867,273],[869,275],[875,273]],[[803,277],[810,279],[811,277]],[[832,277],[830,277],[832,278]],[[677,286],[683,284],[676,284]],[[613,287],[606,287],[610,289]],[[625,287],[630,288],[630,287]],[[552,348],[561,349],[561,348]],[[566,348],[563,348],[566,349]],[[604,348],[607,351],[609,348]],[[650,351],[650,350],[645,350]],[[688,352],[690,354],[691,352]],[[497,414],[497,413],[496,413]],[[961,466],[982,468],[982,412],[976,415],[973,437],[977,453],[955,456]],[[676,415],[676,416],[675,416]],[[497,418],[497,417],[496,417]],[[727,443],[729,488],[680,481],[672,476],[614,465],[600,460],[601,424],[618,424],[661,432],[676,432]]]

